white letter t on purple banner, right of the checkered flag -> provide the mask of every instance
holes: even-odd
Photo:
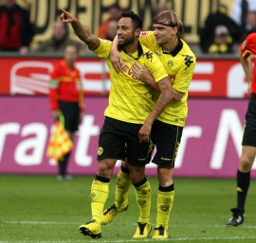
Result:
[[[77,165],[90,166],[92,165],[92,156],[88,155],[88,148],[91,136],[98,136],[100,134],[100,127],[93,125],[94,116],[87,114],[82,120],[82,125],[79,129],[79,139],[77,149],[75,152],[75,162]],[[97,152],[97,151],[95,151]]]

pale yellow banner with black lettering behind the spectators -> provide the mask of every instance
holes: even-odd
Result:
[[[4,1],[0,0],[0,4]],[[144,29],[149,29],[154,17],[154,9],[161,4],[166,4],[174,9],[183,20],[187,42],[197,43],[198,27],[203,25],[210,12],[214,12],[220,2],[232,7],[232,0],[17,0],[31,14],[31,22],[36,26],[37,40],[46,40],[50,37],[52,23],[60,16],[60,8],[64,8],[76,15],[82,23],[97,34],[102,20],[107,17],[108,8],[114,3],[119,3],[123,9],[132,9],[142,17]],[[70,31],[71,34],[72,31]],[[73,38],[76,38],[73,35]]]

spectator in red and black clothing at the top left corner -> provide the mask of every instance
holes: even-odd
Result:
[[[34,26],[29,21],[29,12],[6,0],[0,7],[0,51],[18,51],[27,54],[34,34]]]

